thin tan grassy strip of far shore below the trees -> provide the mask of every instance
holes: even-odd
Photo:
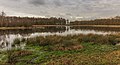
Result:
[[[32,25],[30,27],[0,27],[0,30],[19,30],[19,29],[34,29],[34,28],[44,28],[44,27],[65,27],[65,26],[71,26],[71,27],[103,27],[103,28],[120,28],[120,25]]]

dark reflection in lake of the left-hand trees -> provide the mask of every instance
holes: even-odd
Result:
[[[65,32],[66,27],[42,27],[42,28],[33,28],[33,29],[18,29],[18,30],[0,30],[0,35],[5,34],[31,34],[35,32]]]

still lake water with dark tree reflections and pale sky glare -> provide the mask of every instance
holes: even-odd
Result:
[[[104,27],[41,27],[36,29],[27,30],[0,30],[0,51],[10,50],[14,48],[24,49],[26,43],[14,45],[13,42],[16,38],[32,38],[36,36],[48,35],[77,35],[77,34],[116,34],[120,33],[120,28],[104,28]]]

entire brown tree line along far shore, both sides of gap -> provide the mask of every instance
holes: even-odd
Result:
[[[64,18],[35,18],[35,17],[15,17],[0,15],[0,27],[31,27],[33,25],[120,25],[120,16],[108,19],[95,19],[86,21],[73,21]]]

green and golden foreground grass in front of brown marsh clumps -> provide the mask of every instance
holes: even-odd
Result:
[[[13,65],[118,65],[120,46],[82,43],[84,48],[70,51],[45,51],[43,47],[27,46],[13,51],[1,64]],[[5,55],[5,54],[4,54]],[[9,62],[8,62],[9,60]]]

